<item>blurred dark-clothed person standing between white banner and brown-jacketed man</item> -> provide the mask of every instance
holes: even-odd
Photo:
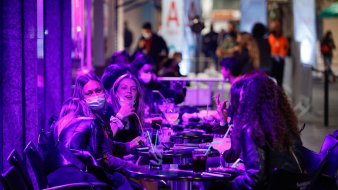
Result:
[[[202,52],[204,53],[204,56],[206,56],[206,58],[213,58],[215,68],[218,70],[217,56],[215,53],[218,45],[218,33],[213,31],[213,24],[210,25],[210,32],[205,34],[202,40]],[[204,69],[206,68],[208,68],[208,64],[204,65]]]

